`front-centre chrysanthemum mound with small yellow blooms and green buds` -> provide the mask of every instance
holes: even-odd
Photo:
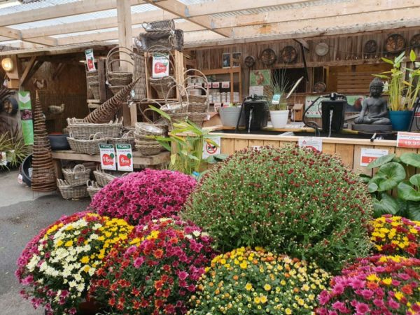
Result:
[[[313,314],[329,280],[314,263],[241,247],[212,260],[188,315]]]

